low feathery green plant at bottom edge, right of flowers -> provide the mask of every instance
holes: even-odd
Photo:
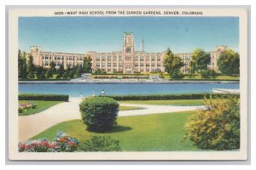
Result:
[[[80,146],[84,151],[121,151],[119,140],[111,139],[110,136],[93,136],[85,140]]]

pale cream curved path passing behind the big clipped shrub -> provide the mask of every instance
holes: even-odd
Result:
[[[30,116],[19,116],[19,141],[30,139],[57,123],[80,119],[79,103],[81,99],[71,98],[69,102],[54,105],[49,109]],[[120,104],[124,106],[143,107],[143,110],[119,111],[119,116],[139,116],[154,113],[177,111],[195,111],[204,106],[172,106],[172,105],[137,105]]]

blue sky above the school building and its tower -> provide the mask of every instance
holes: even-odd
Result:
[[[19,48],[84,54],[122,50],[124,31],[134,33],[135,49],[174,53],[227,45],[238,51],[238,17],[20,17]]]

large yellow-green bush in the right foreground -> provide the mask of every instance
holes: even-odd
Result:
[[[205,105],[205,109],[198,110],[190,117],[184,138],[195,142],[201,149],[239,149],[239,98],[230,95],[228,99],[205,99]]]

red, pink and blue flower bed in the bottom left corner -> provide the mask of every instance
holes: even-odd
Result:
[[[26,140],[19,143],[20,152],[73,152],[78,150],[79,140],[59,132],[53,142],[47,139]]]

